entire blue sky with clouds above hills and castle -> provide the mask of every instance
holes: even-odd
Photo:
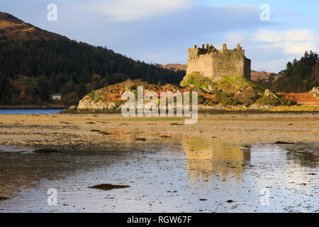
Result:
[[[57,21],[47,19],[49,4]],[[134,60],[186,64],[194,45],[240,43],[252,70],[267,72],[319,52],[318,9],[318,0],[0,0],[0,11],[26,23]]]

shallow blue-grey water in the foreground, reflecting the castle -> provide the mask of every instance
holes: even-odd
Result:
[[[135,143],[0,150],[1,212],[318,212],[319,143]],[[129,185],[101,191],[95,184]],[[47,190],[57,189],[57,205]]]

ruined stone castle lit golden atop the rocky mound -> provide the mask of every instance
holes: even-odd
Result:
[[[222,50],[217,50],[213,44],[201,48],[188,49],[186,74],[200,72],[205,77],[240,76],[250,79],[251,60],[245,57],[245,50],[239,44],[234,50],[228,50],[223,44]]]

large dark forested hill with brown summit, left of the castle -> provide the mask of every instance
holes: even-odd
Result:
[[[178,84],[184,72],[163,69],[124,55],[77,43],[1,13],[0,104],[49,105],[52,93],[60,103],[77,104],[96,89],[142,79],[152,84]]]

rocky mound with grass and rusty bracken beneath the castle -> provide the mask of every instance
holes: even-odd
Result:
[[[140,80],[127,80],[113,84],[86,94],[77,106],[71,106],[64,113],[68,114],[101,114],[121,113],[121,106],[125,101],[121,95],[125,91],[134,92],[137,96],[138,86],[143,86],[144,92],[198,92],[198,108],[201,109],[229,109],[234,107],[249,109],[269,109],[274,106],[291,106],[296,101],[278,96],[266,89],[262,84],[248,81],[242,77],[222,77],[214,81],[201,78],[194,74],[187,75],[181,82],[159,86],[148,84]],[[136,101],[136,100],[135,100]],[[159,99],[159,103],[160,103]]]

